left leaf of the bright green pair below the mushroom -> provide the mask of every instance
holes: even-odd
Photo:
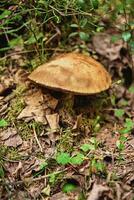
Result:
[[[66,165],[70,161],[70,155],[68,153],[59,153],[56,157],[58,164]]]

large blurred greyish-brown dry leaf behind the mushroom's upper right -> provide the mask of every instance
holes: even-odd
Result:
[[[109,60],[116,60],[120,58],[120,50],[123,47],[123,41],[118,40],[111,42],[111,35],[107,33],[100,33],[93,37],[93,46],[95,51]]]

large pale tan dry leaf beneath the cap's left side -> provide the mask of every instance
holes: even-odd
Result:
[[[45,109],[47,106],[43,102],[43,94],[39,90],[25,97],[27,106],[19,114],[18,119],[34,119],[36,122],[47,124],[45,118]]]

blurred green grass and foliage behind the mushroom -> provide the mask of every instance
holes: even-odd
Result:
[[[110,27],[134,50],[133,0],[3,0],[0,2],[0,53],[20,46],[42,62],[53,48],[90,41]],[[123,21],[123,22],[122,22]],[[119,39],[114,37],[115,40]],[[29,54],[28,54],[29,56]]]

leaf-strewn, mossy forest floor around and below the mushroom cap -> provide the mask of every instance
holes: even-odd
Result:
[[[122,43],[108,41],[96,36],[85,52],[107,67],[111,88],[75,96],[73,107],[63,93],[28,80],[21,52],[7,56],[0,73],[0,199],[134,200],[134,87],[124,68],[130,61]]]

